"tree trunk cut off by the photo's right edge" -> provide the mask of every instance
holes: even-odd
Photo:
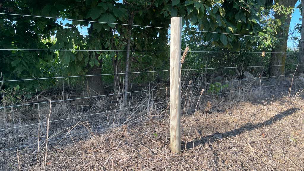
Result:
[[[300,40],[300,54],[299,54],[299,66],[297,69],[298,74],[304,73],[304,0],[301,0],[302,6],[302,29],[301,29],[301,40]],[[301,64],[301,65],[300,65]]]

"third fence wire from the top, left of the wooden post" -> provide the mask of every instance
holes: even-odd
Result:
[[[62,78],[75,78],[75,77],[90,77],[90,76],[105,76],[105,75],[123,75],[123,74],[139,74],[147,72],[165,72],[169,70],[159,70],[159,71],[141,71],[141,72],[127,72],[127,73],[111,73],[111,74],[95,74],[95,75],[76,75],[76,76],[64,76],[64,77],[47,77],[47,78],[37,78],[37,79],[16,79],[16,80],[3,80],[0,82],[10,82],[10,81],[28,81],[28,80],[40,80],[40,79],[62,79]]]

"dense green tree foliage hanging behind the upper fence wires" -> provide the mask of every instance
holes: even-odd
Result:
[[[275,35],[284,28],[284,18],[274,18],[271,9],[284,15],[292,12],[292,8],[273,4],[272,0],[0,0],[1,13],[21,14],[0,15],[1,49],[50,49],[2,50],[1,72],[3,79],[11,80],[120,73],[126,68],[126,71],[168,68],[167,52],[126,51],[168,51],[170,31],[157,27],[168,28],[174,16],[181,16],[185,29],[193,30],[184,31],[183,47],[189,44],[200,51],[267,51],[279,43]],[[62,19],[23,14],[76,20],[63,25]],[[88,35],[80,33],[79,27],[88,27]],[[252,61],[243,54],[218,54],[209,65],[268,62],[260,60],[260,54],[256,56]],[[187,62],[205,67],[203,59],[202,55],[190,55]],[[240,60],[244,62],[240,64]],[[137,78],[145,80],[144,77]],[[117,79],[109,76],[106,81],[115,84]],[[5,87],[18,86],[22,89],[20,96],[30,98],[30,92],[48,89],[56,82],[52,79],[5,82]]]

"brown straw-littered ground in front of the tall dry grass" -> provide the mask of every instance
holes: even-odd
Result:
[[[119,124],[109,113],[74,120],[74,127],[54,122],[52,127],[63,125],[67,129],[61,134],[65,138],[50,141],[47,157],[45,143],[25,146],[1,151],[0,166],[2,170],[302,171],[304,100],[297,91],[288,97],[288,89],[286,85],[230,93],[201,98],[199,103],[197,98],[186,99],[181,114],[182,151],[178,154],[172,154],[169,147],[168,107],[159,104],[136,112],[124,111]],[[139,115],[140,111],[144,114]],[[137,115],[136,119],[130,119],[130,115]],[[78,134],[84,130],[89,131]],[[8,147],[2,144],[2,148]]]

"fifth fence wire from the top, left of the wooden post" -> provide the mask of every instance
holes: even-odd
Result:
[[[160,103],[165,103],[165,102],[158,102],[158,103],[154,103],[154,104],[160,104]],[[97,114],[102,114],[102,113],[115,112],[115,111],[118,111],[118,110],[133,109],[133,108],[143,107],[143,106],[149,106],[149,105],[150,105],[150,104],[141,105],[141,106],[132,106],[132,107],[128,107],[128,108],[122,108],[122,109],[116,109],[116,110],[109,110],[109,111],[105,111],[105,112],[92,113],[92,114],[81,115],[81,116],[76,116],[76,117],[69,117],[69,118],[64,118],[64,119],[51,120],[51,121],[49,121],[49,122],[40,122],[40,123],[36,123],[36,124],[28,124],[28,125],[22,125],[22,126],[17,126],[17,127],[4,128],[4,129],[0,129],[0,131],[5,131],[5,130],[9,130],[9,129],[14,129],[14,128],[20,128],[20,127],[27,127],[27,126],[39,125],[39,124],[45,124],[45,123],[50,123],[50,122],[56,122],[56,121],[60,121],[60,120],[74,119],[74,118],[79,118],[79,117],[87,117],[87,116],[92,116],[92,115],[97,115]]]

